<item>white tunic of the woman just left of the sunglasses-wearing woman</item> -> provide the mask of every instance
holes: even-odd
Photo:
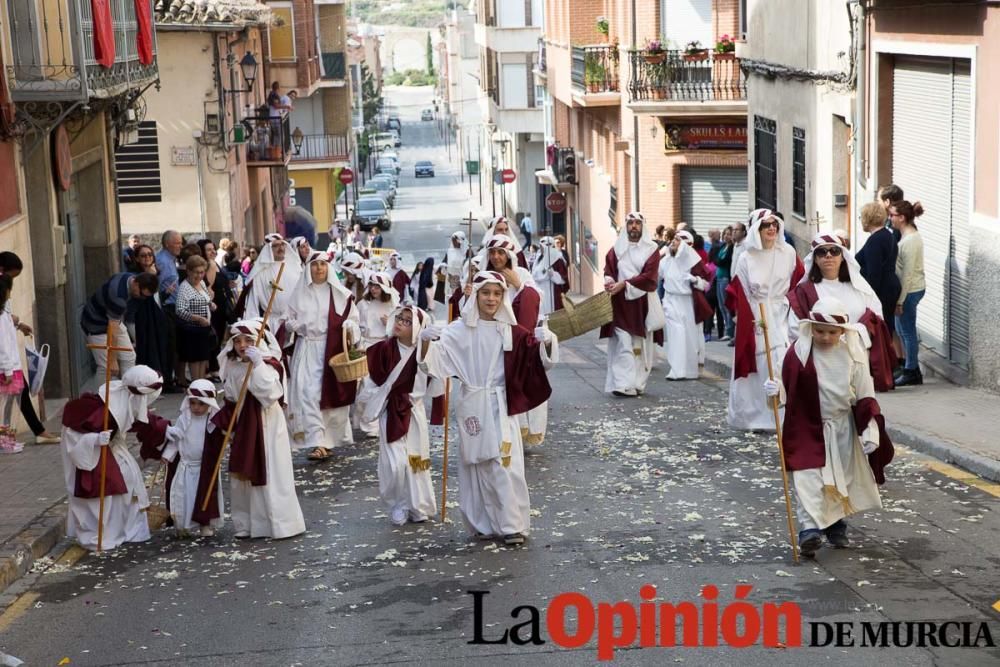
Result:
[[[795,271],[795,251],[779,239],[781,246],[771,250],[747,249],[739,258],[734,275],[740,279],[750,302],[754,319],[760,317],[759,304],[767,314],[768,336],[771,340],[771,362],[774,376],[781,378],[781,364],[788,351],[788,290]],[[735,378],[736,365],[730,376],[728,421],[730,426],[743,429],[774,430],[774,414],[764,395],[767,379],[767,350],[764,334],[755,330],[757,372]]]

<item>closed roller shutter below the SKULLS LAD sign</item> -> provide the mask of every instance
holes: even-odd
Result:
[[[746,220],[747,170],[681,167],[681,217],[701,234]]]

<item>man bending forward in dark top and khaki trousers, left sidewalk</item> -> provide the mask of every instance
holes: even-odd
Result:
[[[125,329],[125,313],[130,299],[148,299],[156,293],[159,280],[151,273],[116,273],[97,288],[83,308],[80,327],[87,335],[88,345],[97,362],[97,378],[104,382],[105,368],[116,375],[124,375],[135,366],[135,350]],[[108,327],[114,331],[115,347],[127,348],[125,352],[113,352],[109,358],[104,346],[107,344]]]

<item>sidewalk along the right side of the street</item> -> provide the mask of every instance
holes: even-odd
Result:
[[[729,378],[732,363],[733,348],[706,345],[707,371]],[[878,401],[893,442],[1000,482],[1000,397],[925,376],[922,386],[878,394]]]

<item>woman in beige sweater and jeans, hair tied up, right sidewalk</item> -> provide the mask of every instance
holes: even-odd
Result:
[[[924,298],[924,241],[917,231],[916,218],[924,214],[920,202],[910,203],[905,199],[889,207],[892,226],[900,234],[899,255],[896,258],[896,274],[899,276],[899,298],[896,300],[896,330],[903,341],[906,361],[903,369],[894,378],[897,387],[923,384],[918,353],[920,340],[917,337],[917,305]]]

